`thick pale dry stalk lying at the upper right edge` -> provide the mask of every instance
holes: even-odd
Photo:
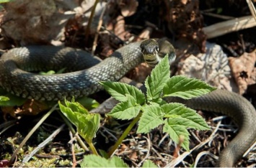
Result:
[[[236,32],[241,29],[247,29],[255,26],[255,19],[252,16],[247,16],[231,19],[226,22],[212,24],[209,27],[203,27],[203,32],[206,33],[208,39],[211,39],[227,34],[229,32]]]

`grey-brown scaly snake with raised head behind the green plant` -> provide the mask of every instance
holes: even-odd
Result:
[[[102,90],[99,81],[120,80],[129,70],[144,62],[144,55],[149,56],[146,60],[154,66],[159,60],[151,59],[150,56],[164,52],[169,52],[172,62],[175,50],[167,40],[132,42],[115,50],[102,61],[89,52],[71,47],[17,47],[1,55],[0,85],[9,93],[39,101],[79,98]],[[66,73],[36,73],[62,68]],[[255,108],[237,93],[216,89],[199,98],[167,98],[167,101],[185,103],[187,107],[197,110],[222,113],[234,120],[239,132],[221,151],[217,167],[233,167],[256,140]]]

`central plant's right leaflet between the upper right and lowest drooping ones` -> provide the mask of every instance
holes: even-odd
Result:
[[[165,117],[176,118],[176,123],[180,126],[198,130],[210,129],[202,116],[181,103],[167,103],[161,106],[161,108]]]

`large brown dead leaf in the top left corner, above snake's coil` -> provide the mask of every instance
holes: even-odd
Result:
[[[5,9],[2,33],[21,45],[42,45],[60,39],[67,19],[72,16],[58,11],[53,0],[11,1]]]

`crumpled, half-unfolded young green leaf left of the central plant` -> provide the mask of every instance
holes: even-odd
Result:
[[[97,130],[100,127],[100,114],[88,113],[81,104],[64,101],[64,105],[58,102],[61,112],[76,126],[79,134],[88,142],[92,142]]]

